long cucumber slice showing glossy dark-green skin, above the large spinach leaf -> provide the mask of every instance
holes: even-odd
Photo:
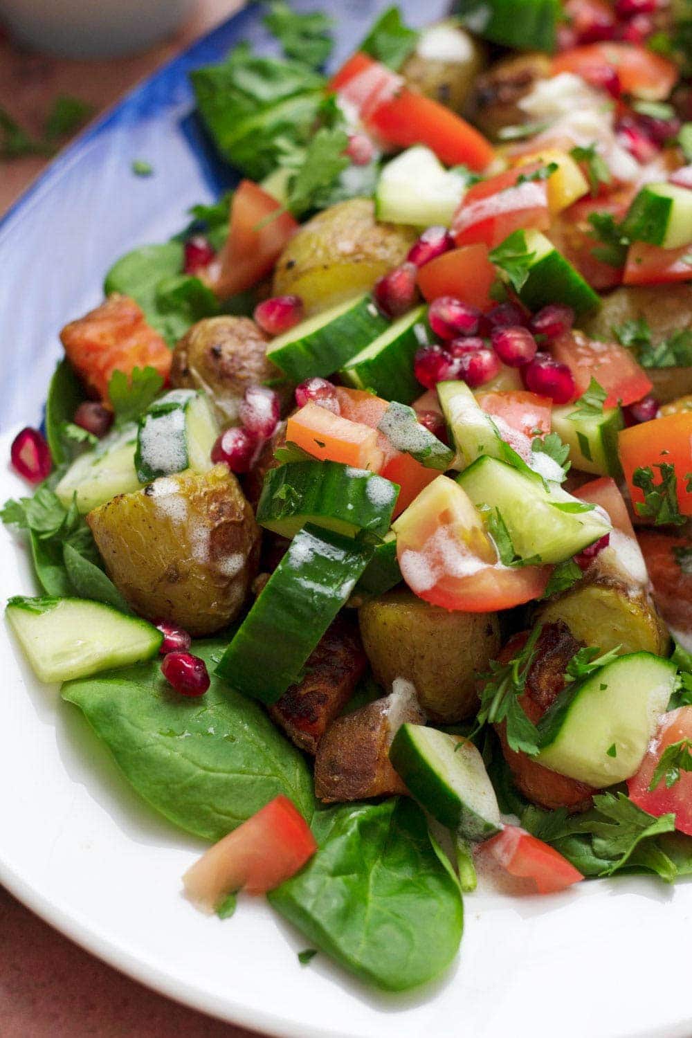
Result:
[[[366,545],[305,526],[272,573],[216,673],[271,704],[300,681],[305,662],[372,556]]]

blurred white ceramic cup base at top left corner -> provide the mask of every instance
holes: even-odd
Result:
[[[0,0],[0,21],[26,46],[61,57],[114,57],[174,32],[195,0]]]

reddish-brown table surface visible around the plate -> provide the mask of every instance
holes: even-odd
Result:
[[[96,111],[242,0],[199,0],[192,20],[172,39],[133,57],[68,61],[21,52],[0,38],[0,107],[38,134],[60,93]],[[93,75],[98,72],[98,75]],[[31,156],[0,162],[0,215],[40,172]],[[0,1035],[2,1038],[253,1038],[142,987],[78,948],[0,886]]]

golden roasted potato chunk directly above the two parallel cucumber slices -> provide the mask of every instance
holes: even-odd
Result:
[[[310,312],[327,309],[371,289],[404,262],[417,237],[413,227],[379,223],[370,198],[340,201],[288,242],[276,265],[274,294],[295,293]]]

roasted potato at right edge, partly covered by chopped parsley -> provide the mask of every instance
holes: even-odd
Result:
[[[613,328],[626,321],[645,321],[652,342],[658,345],[675,332],[692,331],[692,290],[688,284],[632,285],[615,289],[603,300],[603,306],[588,320],[585,331],[593,338],[608,340]],[[667,404],[692,393],[692,365],[687,367],[647,367],[654,383],[654,397]]]

